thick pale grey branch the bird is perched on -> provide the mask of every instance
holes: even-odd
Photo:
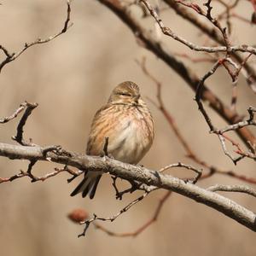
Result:
[[[108,157],[101,158],[67,153],[67,151],[61,150],[45,154],[45,148],[42,147],[24,147],[6,143],[0,143],[0,155],[16,160],[51,160],[55,163],[77,167],[80,170],[90,169],[90,171],[98,171],[100,169],[102,172],[109,172],[112,175],[127,180],[145,183],[160,189],[172,190],[208,207],[212,207],[218,212],[222,212],[235,219],[248,229],[256,231],[256,215],[252,211],[247,210],[247,208],[241,207],[235,201],[207,191],[207,189],[201,189],[194,184],[185,183],[177,177],[163,175],[160,172],[148,170],[142,166],[132,166],[109,159]]]

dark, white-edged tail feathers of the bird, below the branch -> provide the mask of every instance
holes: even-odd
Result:
[[[97,185],[102,177],[102,172],[84,172],[84,179],[79,183],[76,189],[70,194],[71,196],[82,193],[82,196],[85,197],[89,194],[90,199],[93,199]]]

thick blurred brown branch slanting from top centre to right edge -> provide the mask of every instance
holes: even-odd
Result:
[[[177,59],[168,51],[158,40],[156,40],[150,32],[146,31],[141,26],[131,13],[122,6],[119,0],[98,0],[111,9],[115,15],[118,15],[120,20],[131,29],[134,35],[139,39],[143,46],[152,51],[154,55],[157,55],[162,61],[171,67],[181,78],[190,86],[192,90],[197,89],[197,85],[200,83],[200,79],[193,73],[189,67],[183,62],[177,61]],[[225,47],[224,47],[225,48]],[[230,125],[241,121],[240,116],[236,111],[232,110],[222,102],[218,96],[214,95],[212,90],[209,90],[206,85],[202,86],[201,99],[209,102],[209,107],[213,108],[222,118],[224,118]],[[241,140],[251,148],[251,145],[256,143],[256,137],[246,127],[236,130],[236,133]]]

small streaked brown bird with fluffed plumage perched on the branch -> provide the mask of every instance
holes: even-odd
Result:
[[[86,154],[101,155],[108,137],[108,154],[114,159],[137,164],[148,152],[154,139],[154,122],[140,95],[137,84],[126,81],[116,86],[108,103],[92,121]],[[92,199],[103,172],[84,172],[84,179],[73,190]]]

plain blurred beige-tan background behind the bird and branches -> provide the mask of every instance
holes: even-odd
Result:
[[[199,2],[199,1],[197,1]],[[229,1],[227,1],[229,2]],[[1,1],[1,42],[10,52],[16,52],[27,42],[47,38],[62,29],[67,6],[64,0]],[[239,14],[250,19],[253,12],[249,1],[240,1]],[[132,8],[135,15],[142,15]],[[194,26],[173,11],[162,15],[166,26],[174,32],[202,44],[206,39]],[[156,135],[154,145],[142,161],[144,166],[158,170],[177,161],[193,164],[173,134],[166,119],[147,98],[155,100],[155,84],[143,74],[135,60],[147,58],[147,67],[163,84],[166,108],[175,118],[183,136],[195,153],[212,165],[255,177],[255,162],[244,160],[234,166],[222,152],[218,138],[209,135],[206,122],[193,101],[194,92],[170,68],[147,50],[139,47],[133,34],[106,7],[97,1],[73,1],[73,27],[49,44],[28,49],[3,68],[0,75],[0,116],[7,116],[25,100],[39,106],[26,123],[25,137],[42,146],[60,144],[67,150],[84,153],[90,122],[116,84],[131,80],[140,85],[148,107],[154,115]],[[231,35],[234,44],[255,44],[256,26],[233,21]],[[144,23],[154,29],[150,17]],[[173,52],[201,57],[168,38]],[[4,55],[1,52],[0,57]],[[211,64],[185,61],[199,76]],[[253,58],[252,58],[253,61]],[[254,58],[255,61],[255,58]],[[226,103],[230,103],[231,82],[223,69],[207,82]],[[254,105],[255,95],[241,77],[238,84],[239,113],[246,114]],[[214,124],[224,120],[207,109]],[[0,127],[1,143],[14,143],[11,136],[19,119]],[[255,131],[255,130],[254,130]],[[237,138],[236,136],[234,136]],[[53,172],[55,164],[38,163],[33,168],[37,176]],[[27,161],[0,158],[0,177],[9,177],[26,170]],[[190,172],[178,169],[176,177],[188,177]],[[136,238],[108,236],[93,225],[87,236],[79,238],[83,226],[73,224],[67,214],[74,208],[84,208],[92,214],[108,217],[118,212],[135,195],[125,195],[116,201],[111,178],[105,175],[93,201],[69,194],[79,183],[78,177],[67,184],[67,174],[61,173],[44,183],[31,183],[26,177],[0,184],[0,247],[2,255],[254,255],[256,235],[223,214],[181,195],[173,194],[160,212],[157,222]],[[205,188],[216,183],[235,184],[241,181],[215,175],[198,185]],[[152,193],[143,202],[121,215],[113,223],[102,223],[116,232],[130,232],[143,225],[154,213],[165,191]],[[224,194],[255,212],[255,199],[249,195]]]

